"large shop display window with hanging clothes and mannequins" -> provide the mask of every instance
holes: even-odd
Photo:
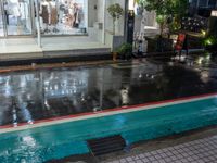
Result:
[[[41,33],[84,34],[87,28],[87,0],[40,0]]]

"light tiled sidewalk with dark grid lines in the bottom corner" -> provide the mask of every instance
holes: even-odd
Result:
[[[217,163],[217,135],[107,163]]]

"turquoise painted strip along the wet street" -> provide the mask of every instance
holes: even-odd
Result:
[[[40,163],[87,153],[91,138],[120,134],[132,143],[213,124],[216,98],[0,134],[0,162]]]

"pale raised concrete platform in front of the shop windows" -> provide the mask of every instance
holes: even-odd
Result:
[[[0,61],[110,53],[108,46],[88,36],[0,39]]]

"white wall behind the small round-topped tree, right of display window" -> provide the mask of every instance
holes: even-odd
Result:
[[[92,39],[106,45],[112,45],[113,22],[107,8],[119,3],[125,9],[125,0],[88,0],[88,33]],[[97,8],[95,8],[97,7]],[[102,28],[99,28],[99,23]],[[116,35],[124,36],[125,16],[123,15],[116,26]]]

